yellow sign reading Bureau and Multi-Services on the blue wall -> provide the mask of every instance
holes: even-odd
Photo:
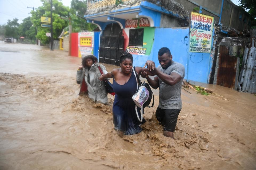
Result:
[[[211,53],[214,17],[191,12],[189,52]]]

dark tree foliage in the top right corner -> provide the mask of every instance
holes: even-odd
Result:
[[[256,0],[240,0],[239,5],[243,9],[248,10],[251,18],[251,26],[256,26]]]

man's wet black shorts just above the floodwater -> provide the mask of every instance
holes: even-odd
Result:
[[[180,111],[179,109],[161,109],[158,107],[155,117],[162,124],[164,131],[174,132]]]

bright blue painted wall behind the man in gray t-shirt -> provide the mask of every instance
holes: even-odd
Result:
[[[155,28],[154,43],[149,56],[133,55],[134,66],[144,66],[153,60],[159,66],[157,54],[161,47],[170,49],[173,60],[185,66],[185,79],[207,83],[212,65],[210,53],[187,53],[189,28]]]

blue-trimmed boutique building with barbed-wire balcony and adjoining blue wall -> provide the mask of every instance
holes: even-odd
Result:
[[[208,83],[210,53],[188,53],[189,13],[177,2],[171,10],[155,1],[88,1],[85,18],[101,30],[99,61],[119,65],[119,52],[133,54],[134,66],[147,60],[159,65],[157,53],[168,47],[173,60],[185,66],[185,79]]]

